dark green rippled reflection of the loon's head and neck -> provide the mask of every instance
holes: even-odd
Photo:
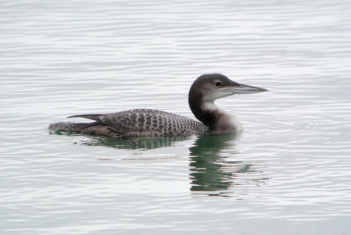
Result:
[[[241,133],[220,136],[201,136],[191,147],[191,191],[222,191],[232,187],[260,185],[264,166],[257,161],[230,161],[239,154],[235,141]],[[213,196],[213,194],[211,194]],[[224,196],[224,195],[218,195]]]

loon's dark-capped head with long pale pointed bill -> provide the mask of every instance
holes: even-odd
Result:
[[[191,99],[200,99],[203,102],[214,102],[216,99],[233,94],[253,94],[264,91],[268,90],[237,83],[223,74],[204,74],[198,77],[191,86],[189,102],[191,102]]]

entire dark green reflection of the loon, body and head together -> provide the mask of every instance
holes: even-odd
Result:
[[[81,135],[81,134],[79,134]],[[198,136],[190,150],[190,190],[205,196],[225,197],[228,189],[245,186],[260,186],[269,178],[264,177],[264,161],[232,161],[239,154],[236,141],[242,133]],[[129,137],[111,138],[89,136],[75,142],[88,146],[107,146],[118,149],[150,150],[174,146],[191,137]],[[227,191],[227,192],[226,192]]]

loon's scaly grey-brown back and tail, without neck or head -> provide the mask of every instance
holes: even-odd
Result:
[[[59,131],[72,131],[75,128],[74,132],[110,137],[186,136],[205,134],[209,131],[206,125],[196,120],[154,109],[132,109],[117,113],[69,117],[87,118],[96,122],[67,123],[67,125],[66,123],[55,123],[50,124],[49,128]],[[77,124],[78,129],[74,124]],[[84,124],[90,124],[90,126],[84,126]]]

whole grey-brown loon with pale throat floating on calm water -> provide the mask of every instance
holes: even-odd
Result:
[[[73,115],[94,120],[92,123],[55,123],[49,129],[108,137],[218,135],[242,130],[239,119],[220,109],[214,100],[233,94],[268,91],[236,83],[226,76],[213,73],[198,77],[192,84],[188,102],[200,121],[154,109],[132,109],[117,113]]]

